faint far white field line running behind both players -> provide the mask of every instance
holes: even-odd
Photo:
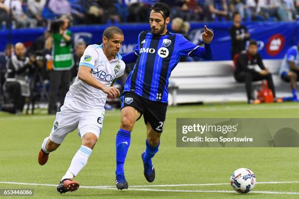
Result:
[[[247,111],[247,110],[279,110],[279,109],[299,109],[299,104],[294,106],[275,106],[275,107],[269,107],[269,106],[263,106],[263,105],[256,105],[256,106],[250,106],[250,107],[234,107],[234,106],[224,106],[224,107],[200,107],[197,109],[182,109],[182,108],[174,108],[169,111],[167,111],[167,114],[177,114],[177,113],[194,113],[194,112],[201,112],[201,111]],[[119,116],[120,111],[112,111],[111,113],[106,112],[105,117],[109,116]],[[55,115],[45,115],[45,116],[32,116],[32,117],[26,117],[24,115],[22,116],[12,116],[12,117],[0,117],[1,120],[10,120],[10,119],[55,119]]]

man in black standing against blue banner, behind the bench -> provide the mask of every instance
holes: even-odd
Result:
[[[232,59],[234,56],[245,50],[246,41],[250,39],[247,28],[241,24],[241,16],[238,12],[233,14],[234,25],[230,28],[232,39]]]

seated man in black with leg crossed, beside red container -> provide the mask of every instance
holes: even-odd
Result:
[[[272,74],[265,68],[261,56],[257,53],[256,40],[250,40],[247,52],[239,55],[234,77],[238,82],[245,82],[248,103],[260,102],[252,96],[252,81],[267,80],[276,99]]]

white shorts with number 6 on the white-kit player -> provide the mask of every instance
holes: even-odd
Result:
[[[56,113],[56,119],[50,134],[50,140],[61,144],[66,135],[79,129],[78,135],[82,138],[86,133],[93,133],[99,138],[102,132],[105,110],[100,112],[79,113],[62,107]]]

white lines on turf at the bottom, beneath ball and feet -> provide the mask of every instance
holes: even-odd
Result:
[[[18,185],[32,185],[32,186],[53,186],[56,184],[40,184],[40,183],[26,183],[26,182],[7,182],[0,181],[2,184],[18,184]],[[280,183],[299,183],[299,181],[289,182],[258,182],[259,184],[280,184]],[[212,186],[212,185],[229,185],[229,183],[208,183],[208,184],[161,184],[161,185],[136,185],[130,187],[171,187],[171,186]],[[114,186],[80,186],[80,188],[88,189],[105,189],[105,190],[116,190]],[[197,192],[197,193],[235,193],[235,191],[226,190],[171,190],[171,189],[149,189],[149,188],[129,188],[133,191],[157,191],[157,192]],[[299,195],[299,192],[278,192],[278,191],[252,191],[252,193],[259,194],[286,194],[286,195]]]

